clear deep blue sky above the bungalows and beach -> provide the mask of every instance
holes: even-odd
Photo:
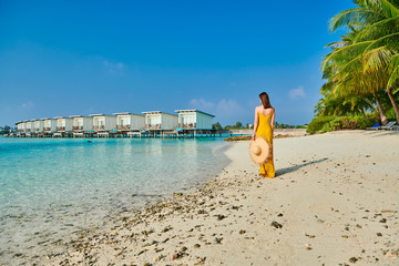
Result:
[[[319,65],[350,0],[0,1],[0,125],[91,113],[200,109],[308,123]]]

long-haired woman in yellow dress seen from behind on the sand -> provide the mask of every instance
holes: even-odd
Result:
[[[275,167],[273,163],[273,131],[275,123],[275,109],[272,108],[270,101],[266,92],[259,94],[260,106],[255,109],[255,122],[253,140],[256,136],[263,136],[272,149],[272,157],[266,164],[260,164],[259,175],[264,177],[275,177]]]

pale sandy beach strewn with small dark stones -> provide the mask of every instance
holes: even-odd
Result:
[[[248,142],[232,143],[232,163],[196,192],[116,217],[39,264],[399,265],[398,132],[274,147],[275,178],[257,176]]]

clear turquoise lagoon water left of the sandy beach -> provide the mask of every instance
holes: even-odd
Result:
[[[0,258],[38,253],[38,243],[203,184],[227,163],[226,145],[211,137],[0,137]]]

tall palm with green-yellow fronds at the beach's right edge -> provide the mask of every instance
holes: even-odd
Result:
[[[321,69],[335,83],[335,93],[374,94],[385,90],[399,123],[399,108],[393,94],[399,91],[399,1],[355,0],[359,8],[338,13],[330,21],[330,30],[341,27],[349,32],[340,42],[329,44],[332,52],[324,59]],[[346,91],[349,90],[349,91]]]

